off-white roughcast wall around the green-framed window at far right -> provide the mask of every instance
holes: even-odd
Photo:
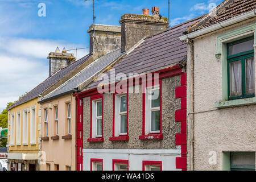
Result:
[[[215,56],[217,52],[216,45],[218,44],[218,36],[240,30],[241,28],[255,24],[255,22],[255,18],[249,19],[193,40],[195,50],[193,72],[195,113],[194,170],[228,170],[226,166],[229,166],[230,162],[229,158],[225,158],[225,152],[256,151],[255,98],[253,105],[230,106],[220,109],[216,107],[216,103],[223,101],[222,91],[225,88],[225,84],[222,85],[222,78],[225,76],[222,75],[222,59],[224,59],[222,56],[224,55],[221,55],[220,60]],[[222,42],[241,39],[244,36],[252,34],[254,34],[255,39],[255,29],[256,28],[252,28],[241,34],[234,34],[233,36],[230,36],[230,38],[222,40]],[[223,47],[221,47],[221,49],[222,48]],[[255,52],[256,49],[254,45],[254,53]],[[191,129],[190,119],[188,119],[188,121],[188,128]],[[191,130],[188,131],[188,140],[190,141]],[[209,163],[209,159],[214,157],[214,152],[216,152],[216,164]],[[189,148],[189,168],[191,166],[190,154]]]

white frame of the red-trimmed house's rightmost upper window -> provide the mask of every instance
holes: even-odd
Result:
[[[151,107],[151,93],[153,90],[159,90],[160,94],[160,85],[150,86],[146,88],[146,94],[145,94],[145,134],[155,134],[160,133],[160,130],[158,131],[152,131],[152,118],[151,113],[152,111],[160,111],[160,105],[159,107]],[[160,97],[160,96],[159,96]]]

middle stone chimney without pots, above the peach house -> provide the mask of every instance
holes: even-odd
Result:
[[[90,53],[96,58],[121,47],[121,27],[95,24],[93,38],[93,24],[87,31],[90,34]]]

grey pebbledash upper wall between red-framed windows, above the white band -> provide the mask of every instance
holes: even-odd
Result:
[[[180,133],[180,123],[175,122],[175,110],[180,109],[180,99],[175,98],[175,88],[180,76],[162,80],[162,133],[163,140],[139,140],[142,135],[142,94],[129,94],[129,141],[111,142],[113,134],[113,96],[104,94],[104,142],[90,143],[90,97],[84,98],[84,148],[101,149],[176,149],[175,134]]]

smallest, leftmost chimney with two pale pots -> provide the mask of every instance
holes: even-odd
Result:
[[[67,53],[65,47],[63,51],[60,52],[59,47],[56,48],[55,52],[50,52],[49,56],[49,77],[52,76],[54,73],[59,71],[62,68],[67,67],[69,64],[75,61],[75,57],[73,53]]]

